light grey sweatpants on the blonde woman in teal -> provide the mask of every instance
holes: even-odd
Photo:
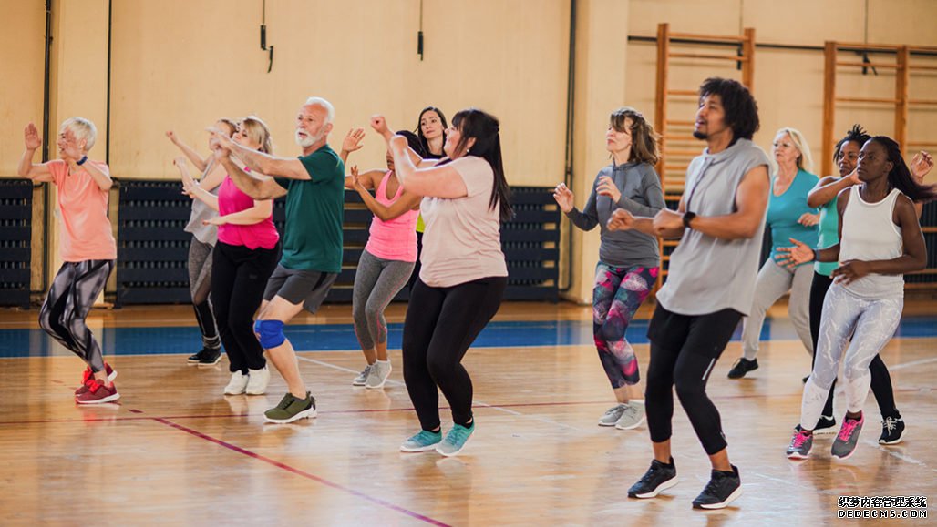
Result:
[[[751,302],[751,312],[745,317],[742,324],[742,351],[745,359],[752,360],[758,355],[758,338],[761,336],[762,326],[765,324],[765,314],[774,302],[788,290],[791,299],[787,304],[787,313],[800,342],[809,354],[813,354],[813,339],[811,338],[811,283],[813,282],[813,266],[801,265],[794,271],[781,267],[773,259],[768,258],[761,271],[758,271],[758,280],[755,282],[755,297]]]

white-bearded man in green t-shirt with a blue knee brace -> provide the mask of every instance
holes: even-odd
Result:
[[[316,417],[316,400],[306,391],[283,326],[304,307],[315,313],[342,267],[345,165],[328,145],[334,118],[329,101],[305,101],[296,117],[296,143],[303,149],[298,158],[262,154],[223,134],[212,138],[212,148],[222,151],[221,163],[242,192],[255,199],[287,197],[283,256],[267,282],[254,326],[260,345],[290,389],[264,414],[276,423]],[[235,165],[231,154],[250,171]]]

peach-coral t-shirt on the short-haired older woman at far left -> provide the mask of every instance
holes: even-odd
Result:
[[[111,173],[100,161],[88,159],[85,163],[105,174]],[[58,187],[62,259],[67,262],[116,259],[117,243],[108,219],[108,191],[101,190],[82,167],[69,174],[68,164],[62,159],[50,161],[48,167],[52,183]]]

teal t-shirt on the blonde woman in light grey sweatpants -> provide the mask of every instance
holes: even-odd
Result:
[[[778,256],[779,247],[790,247],[790,239],[804,242],[810,247],[816,247],[819,240],[819,229],[805,227],[797,223],[806,212],[817,213],[816,209],[807,205],[807,195],[819,179],[805,170],[797,170],[794,181],[787,187],[781,196],[774,195],[774,179],[771,180],[771,198],[767,203],[767,225],[771,227],[771,258]],[[775,259],[775,261],[777,261]],[[803,264],[801,264],[803,265]]]

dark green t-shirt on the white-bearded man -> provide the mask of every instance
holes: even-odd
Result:
[[[345,164],[329,145],[299,160],[309,180],[276,179],[287,189],[280,265],[297,271],[340,272]]]

